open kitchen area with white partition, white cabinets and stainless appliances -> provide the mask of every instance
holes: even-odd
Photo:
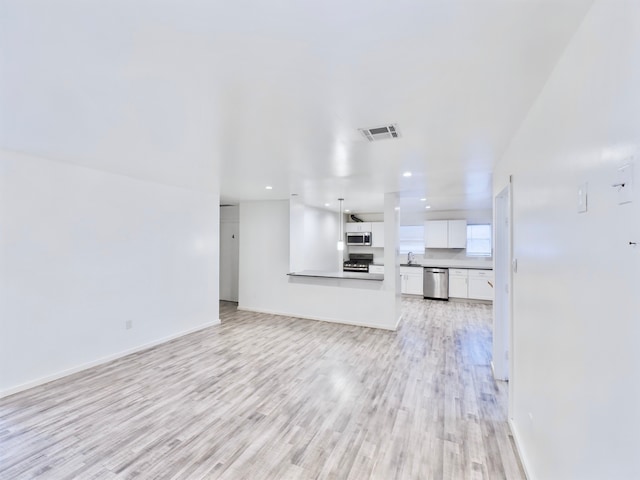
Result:
[[[471,232],[478,224],[490,232],[492,211],[418,214],[403,216],[395,194],[380,213],[341,213],[293,196],[241,203],[239,235],[229,232],[239,238],[239,272],[223,272],[221,290],[237,278],[241,310],[387,330],[401,320],[402,297],[491,302],[491,239],[488,254],[473,255]]]

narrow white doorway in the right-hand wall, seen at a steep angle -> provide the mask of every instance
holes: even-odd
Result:
[[[495,198],[495,299],[493,322],[493,374],[509,380],[512,328],[511,184]]]

